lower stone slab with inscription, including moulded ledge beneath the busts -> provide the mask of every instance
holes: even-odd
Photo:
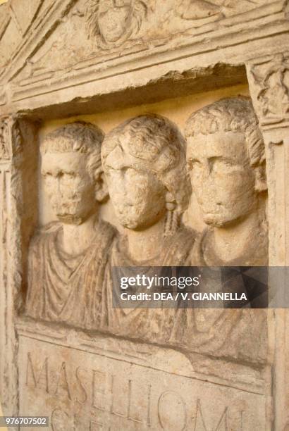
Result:
[[[20,412],[52,430],[265,429],[261,370],[31,321],[18,333]]]

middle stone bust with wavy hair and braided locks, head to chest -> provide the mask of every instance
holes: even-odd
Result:
[[[109,195],[125,235],[113,241],[109,267],[189,265],[195,232],[181,223],[190,198],[185,139],[160,115],[140,115],[106,135],[102,163]],[[109,268],[109,269],[110,269]],[[112,308],[111,271],[103,327],[116,335],[168,341],[173,311]]]

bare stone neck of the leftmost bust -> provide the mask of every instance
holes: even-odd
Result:
[[[95,234],[96,215],[87,218],[81,225],[63,223],[63,230],[59,235],[59,246],[67,254],[83,253],[91,244]]]

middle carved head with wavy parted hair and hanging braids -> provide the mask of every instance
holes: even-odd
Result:
[[[185,139],[167,118],[140,115],[113,129],[102,144],[102,163],[123,226],[145,229],[167,213],[177,222],[187,208]]]

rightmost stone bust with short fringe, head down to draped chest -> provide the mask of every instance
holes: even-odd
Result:
[[[195,243],[192,265],[266,266],[265,151],[252,102],[238,96],[204,106],[187,120],[185,136],[192,189],[209,226]],[[251,306],[266,305],[266,292],[262,293],[247,292]],[[199,309],[188,314],[188,335],[193,325],[196,334],[185,342],[189,339],[195,351],[266,361],[262,309]]]

